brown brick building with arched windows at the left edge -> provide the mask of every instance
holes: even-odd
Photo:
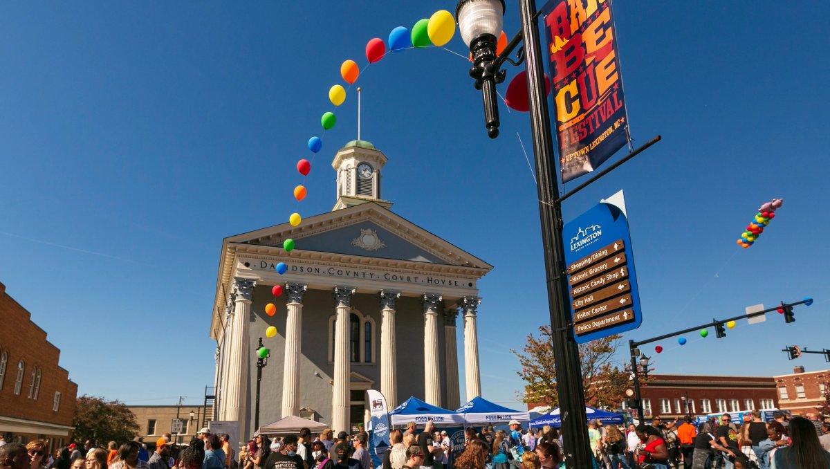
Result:
[[[0,283],[0,434],[7,442],[68,442],[78,385],[58,364],[61,350]]]

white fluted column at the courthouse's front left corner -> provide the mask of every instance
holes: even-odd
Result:
[[[245,416],[245,402],[242,391],[251,377],[248,365],[250,350],[248,350],[248,326],[251,322],[251,296],[253,296],[256,280],[235,277],[233,292],[236,295],[233,314],[232,330],[229,339],[232,342],[231,354],[228,357],[227,386],[225,389],[225,420],[239,422],[239,431],[242,436],[247,435],[247,428],[242,427]]]

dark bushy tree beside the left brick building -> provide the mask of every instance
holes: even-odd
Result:
[[[92,439],[98,443],[98,447],[103,447],[101,445],[106,442],[117,442],[120,445],[132,440],[139,432],[135,414],[125,403],[86,394],[77,399],[72,426],[75,427],[73,434],[76,441]]]

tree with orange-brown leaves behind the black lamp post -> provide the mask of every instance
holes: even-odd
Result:
[[[516,374],[525,381],[522,400],[557,407],[559,392],[556,389],[553,335],[549,325],[541,326],[539,331],[538,337],[533,334],[527,336],[527,343],[520,351],[510,349],[510,352],[519,357],[521,370]],[[621,339],[621,335],[609,335],[579,344],[582,388],[585,403],[590,406],[618,408],[625,398],[625,390],[632,386],[630,372],[613,362]]]

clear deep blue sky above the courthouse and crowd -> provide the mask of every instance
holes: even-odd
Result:
[[[342,61],[364,66],[372,37],[454,8],[2,3],[0,281],[61,349],[79,393],[201,400],[213,380],[222,238],[295,210],[294,164],[333,107]],[[784,345],[830,347],[828,14],[823,2],[615,7],[635,144],[663,141],[569,199],[564,214],[625,190],[645,317],[626,339],[746,305],[816,299],[791,325],[769,315],[721,340],[668,340],[658,372],[784,374],[795,363]],[[505,30],[518,27],[508,2]],[[458,34],[447,49],[466,56]],[[362,137],[388,156],[393,211],[496,266],[479,284],[482,386],[510,405],[522,383],[508,349],[548,320],[536,190],[517,132],[529,152],[531,139],[527,115],[503,105],[500,138],[486,137],[468,67],[437,48],[370,66],[358,81]],[[334,203],[329,163],[356,137],[354,92],[337,113],[306,181],[304,215]],[[735,239],[771,198],[784,208],[740,249]],[[819,355],[798,364],[827,367]]]

